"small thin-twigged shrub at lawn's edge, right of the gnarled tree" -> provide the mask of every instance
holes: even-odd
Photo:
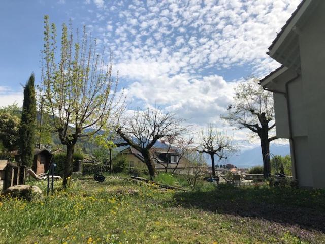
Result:
[[[202,153],[193,152],[184,162],[185,178],[192,191],[196,189],[198,179],[207,172],[207,162]]]

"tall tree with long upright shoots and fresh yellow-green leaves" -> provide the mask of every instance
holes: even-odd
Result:
[[[72,174],[72,160],[80,137],[92,136],[118,112],[122,95],[117,98],[117,78],[112,78],[112,54],[106,65],[83,27],[82,38],[74,40],[72,23],[62,25],[61,49],[57,54],[56,27],[44,17],[42,52],[42,95],[44,108],[53,117],[53,127],[61,144],[67,147],[63,187]],[[105,50],[103,50],[103,53]],[[55,57],[59,56],[59,62]]]

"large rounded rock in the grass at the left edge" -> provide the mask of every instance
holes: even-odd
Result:
[[[2,193],[2,195],[23,198],[28,201],[43,196],[42,190],[38,186],[29,185],[16,185],[9,187]]]

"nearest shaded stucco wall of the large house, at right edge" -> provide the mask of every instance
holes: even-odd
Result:
[[[305,104],[308,146],[305,155],[311,168],[313,186],[325,188],[325,1],[309,17],[299,35],[302,90]]]

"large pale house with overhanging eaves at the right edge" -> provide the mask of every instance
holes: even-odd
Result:
[[[303,187],[325,188],[324,23],[325,1],[302,1],[269,47],[282,66],[260,82],[273,92],[276,134],[290,140]]]

